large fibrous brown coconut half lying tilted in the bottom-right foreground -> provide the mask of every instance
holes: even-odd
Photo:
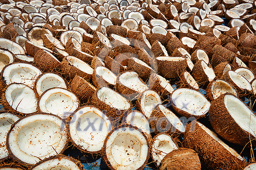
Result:
[[[196,120],[187,125],[183,144],[198,153],[202,168],[239,170],[246,164],[242,156]]]

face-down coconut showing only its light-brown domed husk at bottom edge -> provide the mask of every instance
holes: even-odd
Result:
[[[179,148],[167,153],[161,161],[159,170],[201,170],[201,163],[192,149]]]

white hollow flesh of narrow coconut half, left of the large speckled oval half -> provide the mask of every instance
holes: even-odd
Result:
[[[153,90],[146,90],[143,92],[140,107],[147,118],[151,116],[153,109],[158,104],[161,104],[161,99],[157,92]]]

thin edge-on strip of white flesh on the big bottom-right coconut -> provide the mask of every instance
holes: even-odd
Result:
[[[235,156],[236,158],[243,160],[243,157],[241,155],[239,155],[234,149],[230,148],[226,143],[224,143],[220,138],[218,138],[218,136],[211,131],[210,129],[208,129],[207,127],[205,127],[203,124],[199,123],[197,121],[197,124],[209,135],[211,136],[213,139],[215,139],[219,144],[221,144],[228,152],[230,152],[233,156]]]

